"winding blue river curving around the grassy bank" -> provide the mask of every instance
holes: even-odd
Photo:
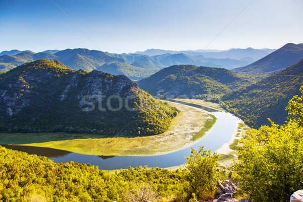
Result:
[[[186,105],[192,106],[193,104],[187,103]],[[6,147],[26,151],[29,154],[46,156],[56,163],[73,161],[98,166],[99,169],[103,170],[126,169],[130,166],[138,167],[145,165],[148,167],[160,168],[178,166],[185,163],[185,157],[190,155],[191,148],[198,149],[198,146],[204,145],[204,149],[212,149],[212,151],[216,151],[224,143],[228,143],[231,140],[232,135],[237,129],[237,121],[239,119],[230,113],[214,110],[212,108],[207,108],[200,105],[192,107],[212,111],[210,113],[217,117],[217,121],[211,131],[194,145],[170,154],[150,157],[90,156],[43,147],[17,145],[6,145]]]

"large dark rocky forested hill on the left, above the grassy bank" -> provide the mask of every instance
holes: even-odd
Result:
[[[9,132],[151,135],[178,114],[124,75],[76,71],[56,60],[1,74],[0,95],[0,130]]]

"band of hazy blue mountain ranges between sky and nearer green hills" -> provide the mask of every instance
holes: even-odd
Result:
[[[113,74],[124,74],[133,80],[139,80],[158,72],[164,67],[180,64],[233,69],[248,65],[257,60],[254,58],[262,57],[271,51],[273,50],[246,48],[218,52],[204,51],[197,55],[198,51],[184,51],[184,53],[181,53],[158,50],[159,54],[165,54],[151,56],[152,54],[110,54],[84,48],[65,49],[63,51],[47,50],[37,54],[31,51],[12,50],[0,54],[0,71],[8,71],[26,62],[43,58],[59,60],[75,70],[92,71],[97,69]],[[206,54],[208,54],[207,57],[204,56]],[[211,54],[215,55],[211,56]]]

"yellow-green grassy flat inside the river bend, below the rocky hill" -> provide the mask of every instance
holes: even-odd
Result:
[[[165,133],[153,136],[116,137],[68,133],[0,133],[0,144],[57,148],[85,155],[149,156],[190,145],[215,124],[213,115],[171,103],[181,113]]]

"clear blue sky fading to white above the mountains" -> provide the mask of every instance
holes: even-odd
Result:
[[[279,48],[303,42],[302,8],[302,0],[0,0],[0,52]]]

